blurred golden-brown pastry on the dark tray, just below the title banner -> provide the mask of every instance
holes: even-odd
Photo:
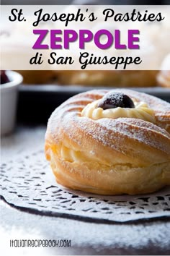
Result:
[[[155,70],[58,71],[58,82],[61,85],[153,87],[156,74]]]

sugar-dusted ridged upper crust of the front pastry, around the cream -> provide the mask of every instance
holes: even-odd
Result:
[[[118,91],[118,90],[114,90]],[[135,98],[135,101],[145,101],[156,112],[167,114],[169,117],[169,103],[161,101],[144,93],[137,93],[131,90],[119,90],[121,93]],[[70,98],[57,108],[48,123],[48,132],[55,142],[64,143],[66,137],[73,141],[75,147],[86,151],[86,145],[93,141],[98,143],[98,147],[109,147],[112,150],[129,156],[133,152],[136,158],[156,158],[151,149],[161,152],[162,161],[169,161],[170,155],[170,135],[165,129],[161,129],[148,121],[132,118],[99,119],[92,120],[86,116],[81,116],[81,111],[87,104],[102,98],[108,90],[92,90],[81,93]],[[161,105],[161,108],[160,108]],[[156,109],[159,111],[156,111]],[[48,133],[47,132],[47,133]],[[72,143],[72,144],[73,144]],[[128,143],[128,144],[127,144]],[[138,143],[138,144],[136,144]],[[135,148],[133,148],[135,145]],[[137,146],[138,145],[138,146]],[[69,148],[69,145],[67,145]],[[140,150],[138,152],[138,150]],[[147,156],[148,152],[148,156]],[[154,151],[155,152],[155,151]],[[94,150],[91,149],[91,154]],[[94,153],[95,154],[95,153]],[[152,155],[153,154],[153,155]],[[160,161],[160,156],[157,161]]]

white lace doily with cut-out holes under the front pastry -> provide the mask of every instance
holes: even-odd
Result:
[[[25,136],[28,136],[28,133],[25,132]],[[43,134],[44,130],[39,133],[38,130],[31,131],[28,137],[32,140],[29,140],[30,144],[34,146],[30,151],[29,147],[22,150],[22,146],[27,143],[25,144],[24,140],[20,142],[17,135],[12,139],[3,139],[2,144],[4,151],[8,152],[8,157],[2,157],[1,198],[13,207],[42,215],[99,222],[136,221],[170,216],[169,187],[141,196],[101,196],[59,187],[49,163],[45,160],[42,150]],[[19,136],[24,139],[23,133]],[[12,148],[8,150],[7,146],[12,140],[19,140],[20,143],[20,147],[16,146],[18,151],[13,148],[15,154]],[[12,154],[11,157],[9,153]]]

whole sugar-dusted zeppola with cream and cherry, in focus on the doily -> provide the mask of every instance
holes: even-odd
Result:
[[[154,192],[170,185],[170,104],[125,89],[73,96],[50,116],[45,155],[65,187]]]

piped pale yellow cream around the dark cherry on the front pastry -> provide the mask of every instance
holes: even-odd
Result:
[[[119,117],[130,117],[135,119],[142,119],[144,121],[150,121],[155,123],[155,115],[153,109],[149,108],[148,104],[140,101],[137,102],[133,99],[135,108],[99,108],[98,103],[100,100],[89,103],[81,111],[81,116],[87,116],[91,119],[98,120],[102,118],[117,119]]]

